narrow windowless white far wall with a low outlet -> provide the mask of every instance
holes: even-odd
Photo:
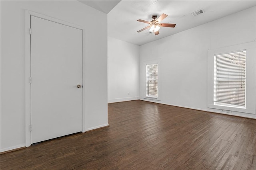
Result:
[[[138,99],[139,46],[108,37],[108,103]]]

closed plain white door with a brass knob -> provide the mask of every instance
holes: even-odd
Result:
[[[31,143],[82,131],[82,30],[31,16]]]

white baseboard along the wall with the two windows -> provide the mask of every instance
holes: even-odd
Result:
[[[188,106],[180,106],[180,105],[173,105],[173,104],[166,104],[166,103],[162,103],[162,102],[154,102],[154,101],[148,101],[148,100],[144,100],[144,99],[140,99],[142,101],[146,101],[146,102],[153,102],[153,103],[158,103],[158,104],[165,104],[165,105],[169,105],[169,106],[176,106],[176,107],[183,107],[183,108],[187,108],[187,109],[194,109],[194,110],[200,110],[200,111],[207,111],[207,112],[212,112],[212,113],[220,113],[223,115],[231,115],[231,116],[237,116],[237,117],[245,117],[245,118],[250,118],[250,119],[256,119],[256,117],[252,117],[252,116],[248,116],[248,115],[238,115],[235,113],[223,113],[221,111],[214,111],[214,110],[209,110],[209,109],[200,109],[200,108],[196,108],[196,107],[188,107]]]

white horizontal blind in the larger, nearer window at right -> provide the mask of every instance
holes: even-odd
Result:
[[[214,55],[214,102],[245,106],[246,50]]]

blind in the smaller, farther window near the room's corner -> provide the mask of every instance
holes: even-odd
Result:
[[[146,96],[158,97],[158,64],[146,65]]]

